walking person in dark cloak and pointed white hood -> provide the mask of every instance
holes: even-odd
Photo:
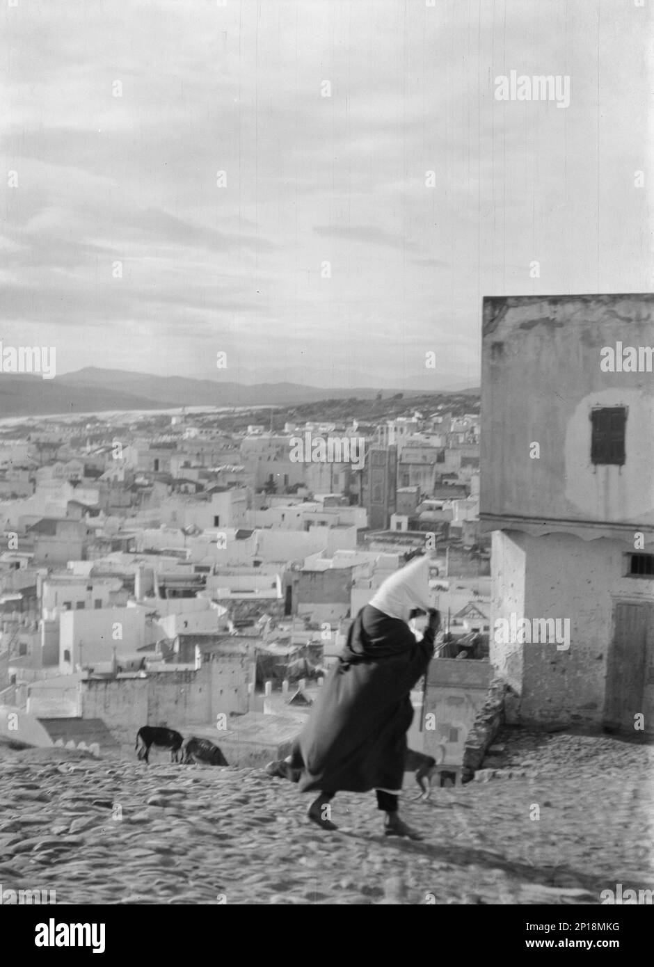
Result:
[[[408,622],[421,611],[430,621],[418,641]],[[402,822],[398,804],[413,718],[410,692],[427,671],[439,627],[429,561],[420,557],[388,577],[359,611],[291,755],[267,767],[302,792],[318,792],[309,817],[321,829],[337,829],[325,808],[337,792],[374,789],[385,834],[421,838]]]

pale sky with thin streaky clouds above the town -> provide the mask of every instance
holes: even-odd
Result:
[[[483,296],[652,287],[639,0],[12,2],[0,340],[58,373],[479,385]]]

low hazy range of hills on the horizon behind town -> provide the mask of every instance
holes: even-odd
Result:
[[[54,379],[0,373],[0,416],[46,416],[102,410],[169,409],[176,406],[293,406],[321,399],[374,399],[374,387],[325,389],[301,383],[258,383],[253,386],[184,376],[87,366]],[[383,390],[383,396],[396,391]],[[437,392],[437,391],[436,391]],[[444,392],[457,392],[448,389]],[[476,395],[476,390],[464,390]],[[423,391],[424,393],[424,391]],[[421,391],[403,392],[421,396]]]

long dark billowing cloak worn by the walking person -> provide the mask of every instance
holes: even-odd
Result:
[[[416,641],[399,618],[371,604],[359,611],[293,745],[290,765],[302,792],[401,789],[410,691],[432,655],[431,629]]]

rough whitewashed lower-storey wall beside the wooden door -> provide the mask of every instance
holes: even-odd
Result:
[[[633,546],[604,539],[586,542],[566,534],[493,532],[497,563],[490,659],[520,693],[522,721],[601,723],[615,604],[654,601],[654,580],[624,576],[624,554],[629,550]],[[520,587],[521,610],[516,593]],[[508,618],[513,609],[532,621],[569,619],[570,647],[564,650],[556,642],[498,643],[495,619]]]

